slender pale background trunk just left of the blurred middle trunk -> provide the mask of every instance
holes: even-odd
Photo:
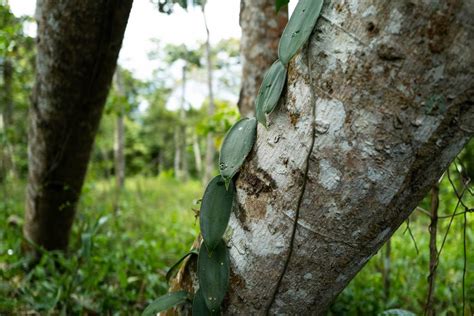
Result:
[[[214,88],[213,88],[213,71],[212,71],[212,50],[211,50],[211,36],[209,32],[209,26],[207,25],[206,18],[206,6],[202,5],[202,16],[204,20],[204,26],[206,28],[206,66],[207,66],[207,89],[209,92],[209,110],[208,115],[212,117],[216,112],[216,105],[214,103]],[[203,183],[207,184],[212,178],[214,172],[214,157],[216,150],[214,147],[214,135],[212,133],[207,134],[206,138],[206,166],[204,171]]]

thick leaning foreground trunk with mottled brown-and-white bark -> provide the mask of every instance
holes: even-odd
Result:
[[[472,16],[467,0],[326,1],[237,181],[226,314],[265,313],[306,162],[270,314],[324,313],[408,217],[474,133]]]

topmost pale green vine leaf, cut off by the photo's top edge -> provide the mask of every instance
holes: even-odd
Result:
[[[285,27],[278,47],[278,57],[285,65],[306,43],[318,20],[323,0],[300,0]]]

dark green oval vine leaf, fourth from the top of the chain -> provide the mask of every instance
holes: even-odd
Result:
[[[204,243],[211,251],[219,245],[229,224],[234,192],[232,180],[227,190],[221,176],[212,179],[204,192],[199,211],[199,224]]]

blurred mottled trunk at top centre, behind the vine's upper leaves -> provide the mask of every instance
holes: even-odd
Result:
[[[277,14],[275,0],[240,1],[242,87],[238,105],[242,116],[255,113],[255,97],[265,71],[278,58],[278,43],[287,21],[288,8]]]

